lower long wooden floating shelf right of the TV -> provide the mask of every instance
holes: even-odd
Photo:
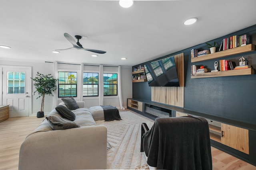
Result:
[[[226,70],[218,72],[205,72],[202,74],[193,74],[191,78],[208,78],[208,77],[224,77],[224,76],[240,76],[240,75],[251,75],[254,74],[254,69],[244,68],[238,70]]]

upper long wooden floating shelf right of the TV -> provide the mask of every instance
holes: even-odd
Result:
[[[255,45],[248,44],[248,45],[244,45],[242,47],[236,47],[233,49],[228,49],[228,50],[218,51],[218,52],[212,53],[212,54],[207,54],[202,57],[191,58],[191,63],[212,60],[212,59],[218,59],[221,57],[227,57],[230,55],[236,55],[236,54],[246,53],[246,52],[250,52],[250,51],[255,51]]]

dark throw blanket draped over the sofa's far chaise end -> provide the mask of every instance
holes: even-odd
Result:
[[[114,106],[101,106],[104,111],[105,121],[122,120],[118,108]]]

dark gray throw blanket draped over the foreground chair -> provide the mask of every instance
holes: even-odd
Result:
[[[143,137],[150,166],[168,170],[212,170],[209,126],[203,117],[158,117]]]

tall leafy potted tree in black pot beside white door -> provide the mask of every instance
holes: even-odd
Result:
[[[36,77],[32,78],[34,80],[34,87],[36,88],[36,92],[38,92],[38,98],[42,96],[41,110],[37,112],[36,117],[44,117],[44,96],[46,94],[53,96],[52,92],[57,89],[56,81],[57,79],[53,78],[52,74],[41,74],[37,72]]]

